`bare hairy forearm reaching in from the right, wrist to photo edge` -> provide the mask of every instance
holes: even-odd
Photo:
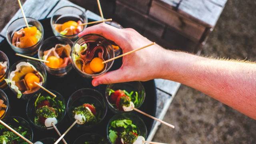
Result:
[[[162,78],[195,88],[256,119],[256,64],[168,51]]]

